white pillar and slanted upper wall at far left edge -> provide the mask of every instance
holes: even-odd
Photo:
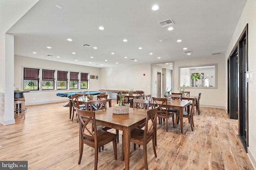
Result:
[[[0,109],[0,123],[7,125],[14,123],[14,92],[10,91],[10,86],[13,89],[13,70],[10,73],[6,73],[6,68],[13,67],[13,47],[7,46],[6,44],[11,45],[13,39],[11,35],[6,35],[5,33],[18,21],[38,0],[26,0],[26,1],[17,1],[17,0],[2,0],[0,5],[0,96],[1,96],[1,109]],[[6,50],[10,50],[6,53]],[[8,55],[8,56],[6,56]],[[7,57],[11,57],[7,59]],[[8,80],[11,80],[8,84],[8,89],[6,90],[6,74]],[[6,96],[8,96],[6,98]],[[8,108],[8,109],[5,109]]]

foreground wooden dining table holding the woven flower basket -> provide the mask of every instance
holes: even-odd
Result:
[[[147,110],[129,107],[128,114],[113,114],[112,108],[95,111],[97,125],[114,128],[123,131],[124,164],[129,169],[131,130],[146,122]]]

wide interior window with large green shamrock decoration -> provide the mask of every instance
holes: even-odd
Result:
[[[179,71],[182,88],[217,88],[217,64],[182,66]]]

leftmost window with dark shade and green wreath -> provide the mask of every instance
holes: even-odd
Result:
[[[39,90],[39,69],[24,68],[23,70],[23,90]]]

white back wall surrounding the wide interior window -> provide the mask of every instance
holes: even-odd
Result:
[[[202,57],[202,58],[193,58],[186,60],[177,60],[174,61],[174,88],[172,92],[178,93],[179,87],[179,66],[192,66],[192,65],[202,65],[202,64],[218,64],[218,88],[217,89],[205,89],[205,88],[188,88],[185,87],[186,91],[190,91],[190,95],[198,96],[199,93],[202,93],[200,106],[209,106],[209,107],[218,107],[226,108],[227,97],[223,98],[225,89],[225,56],[211,56],[211,57]]]

